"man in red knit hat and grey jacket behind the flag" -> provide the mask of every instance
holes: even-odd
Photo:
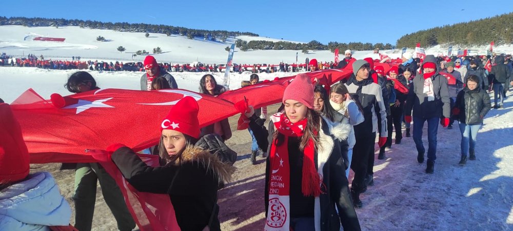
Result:
[[[144,59],[144,69],[146,70],[146,73],[144,73],[141,76],[141,90],[142,91],[149,91],[151,90],[151,81],[153,81],[154,78],[157,78],[159,76],[164,77],[167,82],[169,83],[169,86],[171,88],[178,88],[178,85],[176,84],[176,81],[174,80],[173,75],[167,73],[165,70],[161,69],[159,64],[157,64],[157,61],[155,58],[151,55],[148,55]]]

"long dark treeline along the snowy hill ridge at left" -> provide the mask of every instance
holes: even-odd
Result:
[[[19,25],[26,27],[60,27],[60,26],[78,26],[81,28],[91,29],[109,29],[123,32],[150,32],[163,33],[167,36],[171,34],[186,35],[188,38],[203,37],[210,40],[220,40],[225,42],[229,36],[250,35],[259,36],[255,33],[226,31],[226,30],[199,30],[189,29],[185,27],[174,27],[167,25],[153,25],[144,23],[103,23],[90,20],[66,20],[64,18],[41,18],[41,17],[4,17],[0,16],[0,26],[3,25]]]

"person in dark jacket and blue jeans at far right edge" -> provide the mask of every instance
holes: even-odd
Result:
[[[497,56],[495,64],[495,66],[491,67],[490,76],[494,81],[494,108],[497,109],[504,107],[503,91],[505,85],[510,82],[511,71],[509,67],[504,64],[504,56]]]

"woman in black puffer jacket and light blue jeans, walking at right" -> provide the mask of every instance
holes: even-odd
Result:
[[[481,82],[477,75],[469,75],[466,87],[458,93],[452,114],[460,121],[461,131],[461,160],[460,165],[467,163],[467,153],[470,160],[476,160],[476,139],[478,130],[483,126],[483,118],[491,109],[490,97],[486,90],[479,86]]]

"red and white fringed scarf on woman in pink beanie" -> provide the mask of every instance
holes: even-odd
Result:
[[[273,114],[271,120],[278,132],[285,136],[284,142],[277,146],[272,141],[269,152],[269,206],[265,230],[289,230],[290,225],[290,163],[288,139],[301,137],[306,128],[307,119],[291,123],[280,112]],[[305,196],[319,197],[321,195],[321,176],[315,169],[313,140],[308,141],[303,150],[303,175],[301,192]],[[293,154],[297,155],[297,154]]]

